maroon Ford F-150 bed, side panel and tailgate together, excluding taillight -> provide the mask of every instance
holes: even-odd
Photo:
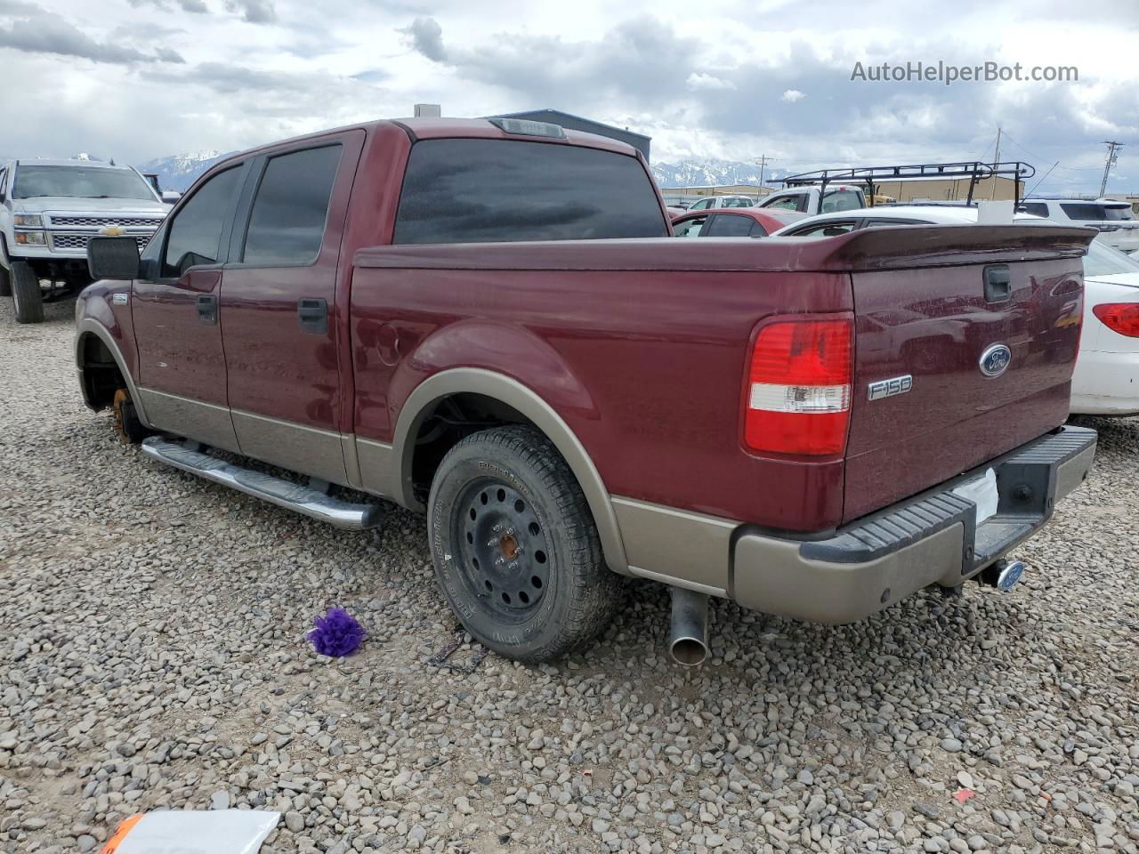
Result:
[[[1064,421],[1090,237],[909,227],[821,239],[361,249],[353,348],[392,322],[416,330],[401,340],[416,355],[386,400],[364,391],[384,384],[358,377],[358,432],[390,440],[402,399],[461,352],[465,364],[541,391],[611,494],[813,535]],[[1013,293],[986,309],[981,276],[991,264],[1013,270]],[[855,319],[847,450],[748,452],[741,400],[753,332],[763,319],[803,313]],[[977,358],[997,340],[1014,361],[990,380]],[[867,383],[899,373],[912,376],[910,393],[867,401]]]

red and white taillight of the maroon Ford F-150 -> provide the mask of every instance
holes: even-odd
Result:
[[[753,451],[835,454],[851,408],[850,320],[769,323],[752,350],[744,442]]]

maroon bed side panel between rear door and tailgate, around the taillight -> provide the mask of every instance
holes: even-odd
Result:
[[[825,527],[842,512],[842,461],[746,453],[743,377],[762,318],[849,309],[842,273],[358,268],[357,435],[390,442],[420,381],[484,368],[546,399],[612,494]]]

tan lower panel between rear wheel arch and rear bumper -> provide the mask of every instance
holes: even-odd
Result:
[[[738,522],[613,496],[629,573],[711,596],[728,594]]]

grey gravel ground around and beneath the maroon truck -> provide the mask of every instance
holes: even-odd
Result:
[[[280,810],[264,852],[1139,852],[1139,421],[1018,555],[863,623],[713,608],[666,660],[630,585],[592,650],[460,647],[423,520],[383,543],[117,444],[71,303],[0,301],[0,852],[90,852],[157,807]],[[370,637],[305,642],[338,605]],[[972,793],[972,795],[970,795]],[[956,797],[954,797],[956,796]]]

